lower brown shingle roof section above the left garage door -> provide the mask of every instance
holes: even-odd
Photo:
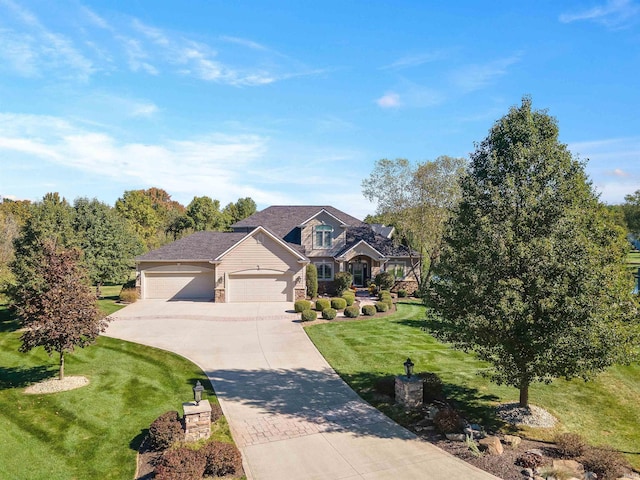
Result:
[[[238,243],[246,233],[196,232],[173,243],[136,257],[137,261],[210,261]]]

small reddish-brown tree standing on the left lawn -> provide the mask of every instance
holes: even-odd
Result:
[[[25,329],[20,351],[42,346],[49,355],[58,353],[60,380],[64,378],[64,354],[93,343],[107,326],[79,261],[78,250],[58,249],[54,241],[47,240],[40,254],[29,258],[33,277],[22,282],[16,276],[18,285],[12,292],[13,306]]]

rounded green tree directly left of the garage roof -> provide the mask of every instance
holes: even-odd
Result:
[[[74,209],[73,225],[83,261],[98,293],[105,282],[127,281],[133,259],[143,248],[133,229],[114,209],[95,198],[77,198]]]

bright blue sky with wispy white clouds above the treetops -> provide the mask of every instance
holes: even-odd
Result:
[[[0,0],[0,195],[250,196],[364,217],[380,158],[467,157],[525,94],[640,189],[640,3]]]

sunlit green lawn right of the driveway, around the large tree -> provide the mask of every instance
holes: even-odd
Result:
[[[373,391],[377,379],[403,373],[411,357],[417,372],[435,372],[448,398],[470,420],[491,425],[493,406],[518,399],[515,388],[498,386],[478,375],[487,364],[454,350],[423,331],[424,307],[399,304],[388,317],[306,327],[307,334],[340,376],[370,403],[399,420],[402,412],[381,404]],[[555,429],[531,429],[532,438],[550,440],[562,431],[580,433],[591,443],[609,444],[628,452],[640,468],[640,365],[616,366],[593,382],[582,380],[536,384],[531,403],[556,415]]]

